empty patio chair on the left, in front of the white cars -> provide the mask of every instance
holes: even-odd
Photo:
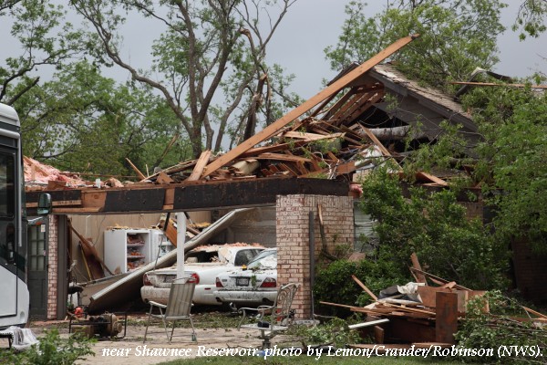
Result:
[[[146,324],[146,330],[144,331],[144,339],[142,340],[142,343],[146,342],[146,335],[148,333],[151,318],[161,319],[161,322],[163,323],[163,328],[165,328],[165,335],[167,336],[169,343],[171,342],[171,339],[173,339],[173,332],[175,331],[177,321],[182,319],[188,319],[190,320],[191,324],[191,339],[192,341],[197,340],[196,330],[193,327],[190,313],[192,306],[191,299],[193,297],[195,287],[195,283],[173,283],[170,287],[167,305],[156,303],[150,300],[149,319],[148,323]],[[154,314],[154,308],[158,308],[160,313]],[[167,328],[168,322],[170,321],[172,322],[172,328],[169,336]]]

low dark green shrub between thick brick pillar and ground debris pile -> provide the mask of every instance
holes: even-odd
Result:
[[[407,283],[408,272],[405,276],[400,270],[388,261],[362,260],[350,262],[337,260],[329,266],[317,270],[314,285],[315,312],[347,317],[351,313],[346,308],[320,305],[319,301],[346,304],[348,306],[364,306],[370,303],[371,298],[362,294],[361,287],[356,285],[351,276],[355,275],[373,293],[378,293],[386,287],[395,284]],[[333,290],[333,288],[336,288]]]

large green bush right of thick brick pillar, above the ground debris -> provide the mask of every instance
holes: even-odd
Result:
[[[451,190],[427,193],[418,187],[403,195],[397,175],[377,169],[363,182],[361,206],[377,220],[378,259],[408,273],[414,252],[429,272],[467,287],[501,287],[506,248],[492,239],[488,226],[466,218]],[[400,283],[399,283],[400,284]]]

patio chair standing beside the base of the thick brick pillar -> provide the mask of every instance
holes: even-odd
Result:
[[[277,334],[289,328],[294,319],[293,305],[294,294],[300,287],[298,284],[287,284],[279,287],[277,297],[273,306],[259,306],[258,308],[240,308],[243,318],[239,323],[241,328],[255,329],[260,331],[258,339],[263,340],[262,349],[270,349],[273,339]],[[257,315],[254,315],[256,313]],[[246,318],[253,315],[258,319],[256,323],[243,324]]]

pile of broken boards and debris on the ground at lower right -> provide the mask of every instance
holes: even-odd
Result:
[[[366,307],[320,302],[325,305],[348,308],[353,312],[365,313],[366,322],[351,325],[349,328],[366,331],[372,335],[376,345],[388,344],[384,349],[419,348],[429,346],[451,347],[456,344],[454,335],[458,332],[459,321],[466,317],[468,301],[473,297],[484,296],[485,291],[471,290],[454,281],[431,275],[421,270],[418,258],[412,255],[413,266],[410,271],[416,282],[406,286],[389,287],[377,297],[356,276],[352,278],[373,298]],[[429,286],[428,282],[435,286]],[[530,308],[523,308],[536,318],[521,318],[540,326],[547,322],[547,316]],[[490,313],[488,301],[482,307]],[[515,318],[515,320],[519,320]],[[351,345],[358,349],[376,349],[375,345]]]

